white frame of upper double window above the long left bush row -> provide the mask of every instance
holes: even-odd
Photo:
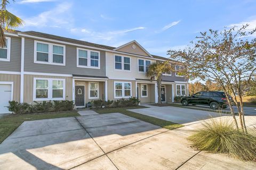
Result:
[[[37,61],[36,60],[36,55],[37,55],[37,43],[42,43],[42,44],[47,44],[48,45],[48,62],[42,62],[42,61]],[[63,63],[54,63],[53,62],[53,46],[60,46],[63,47]],[[60,45],[60,44],[54,44],[54,43],[48,43],[44,41],[34,41],[34,63],[38,64],[51,64],[51,65],[66,65],[66,46],[65,45]]]

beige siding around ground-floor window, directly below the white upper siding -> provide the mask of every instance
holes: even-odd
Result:
[[[131,82],[132,83],[132,97],[136,97],[136,85],[134,80],[118,80],[118,79],[110,79],[108,80],[108,100],[116,100],[114,97],[114,82],[120,81],[120,82]],[[119,99],[119,98],[118,98]]]

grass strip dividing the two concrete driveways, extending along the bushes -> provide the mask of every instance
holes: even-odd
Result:
[[[173,122],[170,122],[170,121],[165,121],[165,120],[162,120],[162,119],[159,119],[159,118],[146,116],[146,115],[142,115],[142,114],[139,114],[139,113],[135,113],[135,112],[131,112],[131,111],[126,110],[126,109],[136,109],[136,108],[146,108],[146,107],[144,107],[144,106],[133,106],[133,107],[121,107],[121,108],[103,108],[103,109],[94,109],[94,111],[99,113],[99,114],[122,113],[124,115],[134,117],[134,118],[137,118],[141,121],[145,121],[145,122],[148,122],[148,123],[151,123],[151,124],[155,124],[155,125],[161,126],[162,128],[169,129],[169,130],[180,128],[180,127],[183,126],[181,124],[173,123]]]

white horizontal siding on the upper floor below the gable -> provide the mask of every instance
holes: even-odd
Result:
[[[115,55],[130,57],[131,58],[131,71],[125,70],[115,70]],[[135,79],[149,79],[146,77],[146,73],[141,73],[138,71],[138,59],[148,60],[151,63],[155,62],[151,60],[151,58],[140,58],[129,55],[120,55],[115,53],[106,52],[106,76],[110,79],[127,79],[127,80],[135,80]]]

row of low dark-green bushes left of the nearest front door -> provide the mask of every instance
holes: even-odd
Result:
[[[9,101],[8,109],[15,114],[24,113],[42,113],[52,111],[72,111],[74,108],[74,101],[62,100],[62,101],[35,101],[34,104],[18,103],[17,101]]]

